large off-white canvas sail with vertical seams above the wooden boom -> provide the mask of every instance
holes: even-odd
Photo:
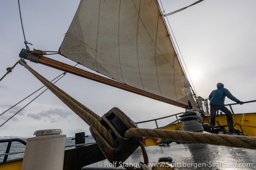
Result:
[[[60,51],[121,83],[196,106],[155,0],[81,0]]]

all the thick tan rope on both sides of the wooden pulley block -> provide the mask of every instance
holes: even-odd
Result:
[[[103,135],[103,137],[109,142],[109,144],[116,148],[117,141],[110,134],[110,131],[99,122],[97,119],[100,118],[96,113],[92,112],[90,109],[79,103],[77,100],[73,99],[67,93],[59,89],[59,87],[50,83],[46,78],[38,74],[31,67],[26,65],[25,61],[20,60],[25,68],[27,68],[32,74],[34,74],[45,86],[53,92],[60,100],[62,100],[70,109],[72,109],[84,122],[89,126],[93,124],[96,129]],[[256,149],[256,137],[251,136],[238,136],[238,135],[219,135],[219,134],[206,134],[199,132],[190,131],[171,131],[171,130],[159,130],[159,129],[140,129],[131,128],[125,132],[126,138],[131,138],[133,136],[143,136],[143,137],[157,137],[164,139],[180,140],[185,142],[195,142],[198,144],[214,144],[214,145],[224,145],[229,147],[238,148],[250,148]]]

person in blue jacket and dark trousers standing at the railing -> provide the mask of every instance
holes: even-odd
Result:
[[[210,123],[215,126],[215,117],[217,110],[224,112],[227,115],[227,121],[229,126],[229,131],[238,131],[233,128],[233,118],[232,113],[228,108],[224,106],[225,97],[228,97],[230,100],[243,104],[242,101],[235,98],[228,89],[224,88],[224,84],[218,83],[217,90],[214,90],[209,95],[210,100]]]

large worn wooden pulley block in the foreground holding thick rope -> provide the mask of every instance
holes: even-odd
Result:
[[[113,162],[114,166],[119,166],[119,162],[124,162],[140,146],[142,137],[128,139],[124,136],[128,129],[137,128],[137,124],[118,108],[111,109],[98,121],[110,131],[118,144],[115,147],[110,146],[94,125],[90,126],[91,135],[108,161]]]

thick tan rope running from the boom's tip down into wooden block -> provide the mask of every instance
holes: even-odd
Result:
[[[113,136],[97,119],[100,118],[96,113],[92,112],[86,106],[79,103],[77,100],[73,99],[73,97],[69,96],[67,93],[59,89],[59,87],[55,86],[53,83],[50,83],[46,78],[38,74],[31,67],[26,65],[23,60],[20,60],[20,64],[22,64],[27,70],[29,70],[33,75],[37,77],[51,92],[53,92],[61,101],[64,102],[74,113],[76,113],[84,122],[86,122],[89,126],[94,125],[95,128],[103,135],[103,137],[110,143],[112,147],[116,147],[117,143]]]

